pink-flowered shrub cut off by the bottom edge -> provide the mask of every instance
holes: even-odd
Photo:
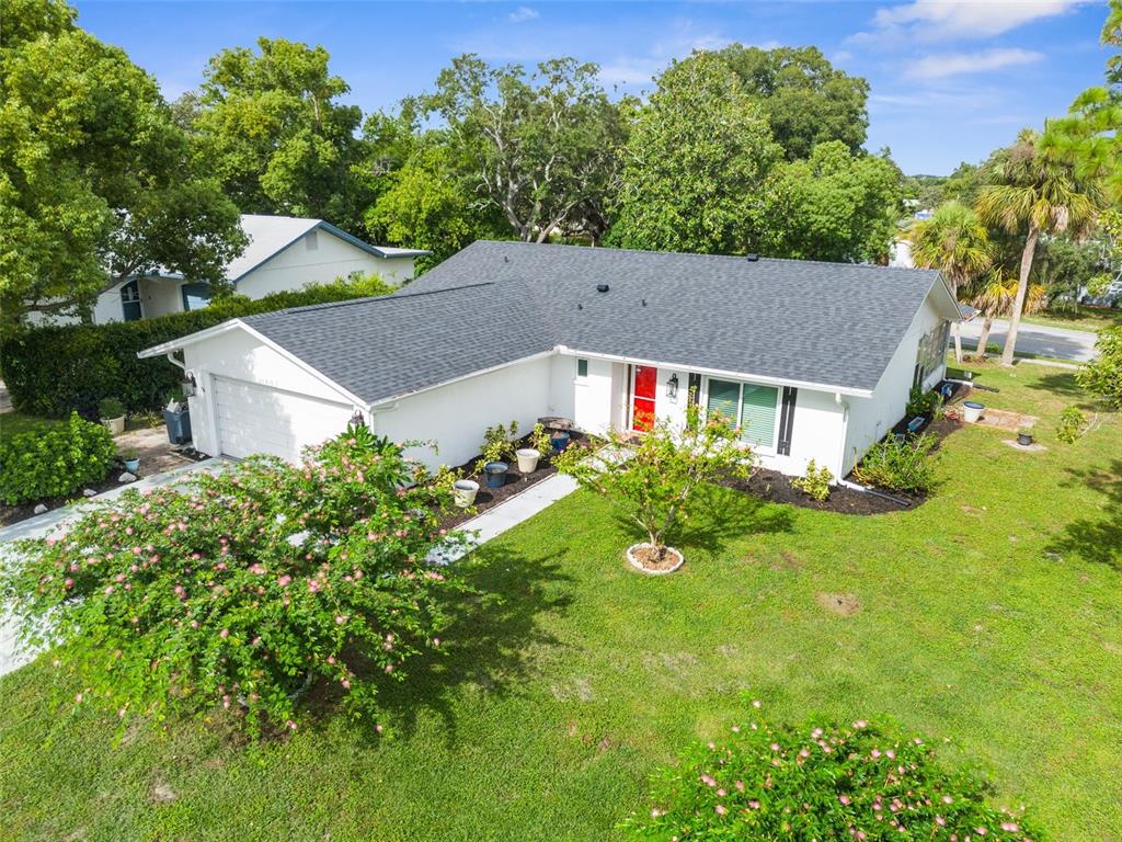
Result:
[[[852,725],[734,726],[656,774],[632,840],[1041,840],[985,788],[941,768],[919,738]]]

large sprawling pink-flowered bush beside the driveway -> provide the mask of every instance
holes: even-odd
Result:
[[[295,727],[316,680],[374,715],[378,683],[440,646],[438,594],[460,587],[426,560],[457,540],[439,523],[451,495],[406,488],[403,447],[358,427],[302,467],[254,457],[130,491],[62,539],[19,543],[3,595],[28,644],[57,644],[75,702],[122,720],[221,705],[251,733]]]

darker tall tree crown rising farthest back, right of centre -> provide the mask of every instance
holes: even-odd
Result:
[[[717,55],[760,106],[788,161],[810,157],[816,146],[831,140],[850,154],[861,150],[868,128],[868,82],[835,70],[818,47],[732,44]]]

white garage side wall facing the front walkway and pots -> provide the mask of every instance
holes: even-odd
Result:
[[[542,415],[554,414],[549,409],[552,367],[551,358],[539,357],[420,392],[397,401],[396,409],[375,406],[370,423],[395,441],[439,441],[435,454],[407,451],[430,468],[462,465],[479,455],[488,427],[517,421],[522,436]]]

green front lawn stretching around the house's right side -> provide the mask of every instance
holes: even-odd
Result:
[[[246,750],[188,722],[114,744],[111,722],[52,711],[40,659],[0,679],[0,838],[613,839],[647,775],[747,692],[775,720],[925,732],[1054,839],[1120,840],[1122,423],[1060,445],[1070,373],[975,368],[1048,450],[956,432],[916,511],[719,493],[661,578],[625,567],[633,533],[583,493],[489,543],[470,577],[503,602],[460,604],[451,653],[387,692],[392,739],[335,720]]]

